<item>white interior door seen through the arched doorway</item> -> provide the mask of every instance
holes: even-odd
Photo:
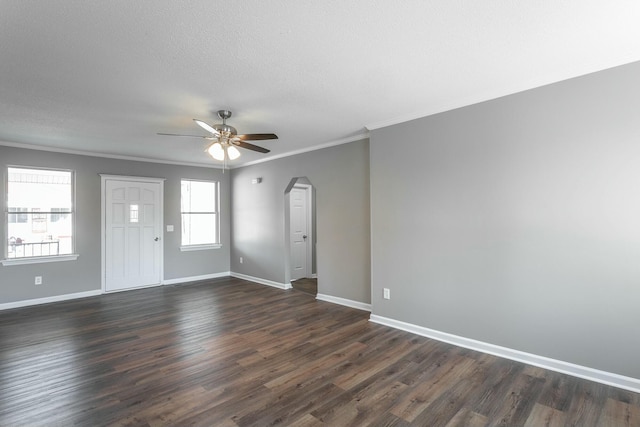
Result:
[[[291,247],[291,280],[308,277],[309,243],[307,189],[294,187],[289,193],[289,236]]]

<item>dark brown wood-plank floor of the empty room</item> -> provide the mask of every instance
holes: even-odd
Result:
[[[225,278],[0,312],[1,426],[639,426],[640,395]]]

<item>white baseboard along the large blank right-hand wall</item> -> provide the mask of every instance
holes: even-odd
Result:
[[[626,377],[624,375],[614,374],[611,372],[601,371],[598,369],[588,368],[586,366],[575,365],[573,363],[564,362],[562,360],[551,359],[536,354],[525,353],[519,350],[513,350],[507,347],[501,347],[474,339],[460,337],[446,332],[436,331],[434,329],[425,328],[423,326],[402,322],[372,314],[369,318],[371,322],[381,325],[390,326],[392,328],[401,329],[424,337],[433,338],[459,347],[469,348],[471,350],[480,351],[482,353],[492,354],[494,356],[503,357],[505,359],[515,360],[516,362],[526,363],[527,365],[537,366],[539,368],[556,371],[563,374],[583,378],[589,381],[610,385],[640,393],[640,379]]]

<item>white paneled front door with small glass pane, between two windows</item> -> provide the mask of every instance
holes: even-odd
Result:
[[[160,183],[105,182],[105,291],[160,284]]]

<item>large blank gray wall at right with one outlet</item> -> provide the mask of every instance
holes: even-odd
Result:
[[[638,76],[373,131],[373,314],[640,378]]]

